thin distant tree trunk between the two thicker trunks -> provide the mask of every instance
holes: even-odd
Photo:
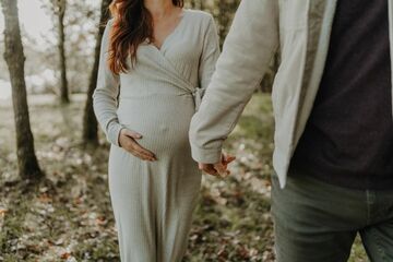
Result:
[[[59,34],[59,56],[60,56],[60,102],[61,104],[69,104],[69,88],[67,81],[67,61],[66,61],[66,34],[64,34],[64,14],[66,14],[66,0],[58,0],[58,34]]]

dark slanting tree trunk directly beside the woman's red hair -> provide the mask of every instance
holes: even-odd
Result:
[[[109,4],[110,0],[103,0],[102,2],[102,11],[100,11],[100,19],[99,19],[99,29],[97,33],[97,43],[95,47],[95,55],[94,55],[94,64],[91,73],[88,90],[87,90],[87,99],[84,108],[84,116],[83,116],[83,132],[82,132],[82,140],[84,143],[88,144],[98,144],[98,124],[97,119],[94,115],[93,110],[93,93],[97,85],[97,75],[98,75],[98,64],[99,64],[99,52],[102,48],[102,39],[105,29],[105,23],[109,19]]]

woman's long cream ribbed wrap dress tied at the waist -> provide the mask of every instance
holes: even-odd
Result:
[[[131,69],[129,59],[129,72],[119,75],[106,62],[110,26],[111,21],[93,98],[111,143],[108,180],[121,261],[181,261],[201,184],[188,132],[219,55],[214,20],[183,10],[162,48],[142,44],[135,67]],[[119,147],[122,128],[141,133],[138,142],[158,160],[143,162]]]

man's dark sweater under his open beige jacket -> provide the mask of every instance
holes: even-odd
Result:
[[[393,189],[388,1],[340,0],[327,60],[289,174]]]

